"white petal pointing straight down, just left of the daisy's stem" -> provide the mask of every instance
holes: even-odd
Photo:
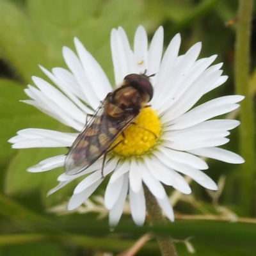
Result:
[[[138,226],[142,226],[145,222],[146,216],[146,202],[143,187],[138,193],[129,189],[129,200],[131,205],[132,219]]]

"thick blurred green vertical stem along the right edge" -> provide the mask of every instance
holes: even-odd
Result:
[[[253,0],[240,0],[236,32],[236,93],[246,98],[241,102],[239,127],[239,147],[245,163],[241,166],[241,209],[249,216],[253,212],[255,192],[255,125],[253,123],[252,95],[249,91],[250,30]],[[254,209],[255,210],[255,209]]]

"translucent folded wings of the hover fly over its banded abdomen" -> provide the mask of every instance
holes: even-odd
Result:
[[[65,159],[65,172],[75,175],[95,163],[135,117],[131,115],[125,120],[115,120],[104,113],[102,107],[97,109],[70,148]]]

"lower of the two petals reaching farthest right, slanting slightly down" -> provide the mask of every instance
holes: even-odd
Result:
[[[217,159],[226,163],[231,164],[242,164],[244,163],[243,157],[230,152],[228,150],[225,150],[223,148],[198,148],[194,150],[189,150],[192,154],[198,155],[198,156],[204,156],[209,157],[212,159]]]

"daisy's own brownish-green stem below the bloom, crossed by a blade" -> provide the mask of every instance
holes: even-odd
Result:
[[[153,224],[164,225],[166,223],[162,211],[157,204],[156,198],[144,186],[148,216]],[[156,235],[161,253],[163,256],[177,256],[177,252],[171,236]]]

